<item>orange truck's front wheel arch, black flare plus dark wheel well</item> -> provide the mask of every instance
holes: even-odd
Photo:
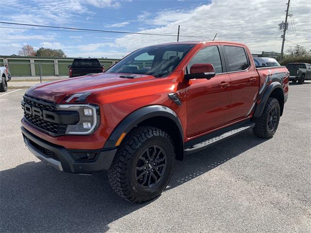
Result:
[[[168,133],[175,146],[177,160],[183,160],[183,128],[177,114],[163,105],[150,105],[126,116],[108,137],[104,148],[114,148],[122,133],[128,134],[137,126],[154,126]]]

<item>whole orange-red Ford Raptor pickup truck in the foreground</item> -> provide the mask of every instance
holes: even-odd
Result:
[[[167,186],[175,159],[251,128],[273,137],[288,82],[286,67],[256,68],[241,43],[155,45],[104,73],[28,89],[21,131],[48,165],[107,170],[121,198],[144,202]]]

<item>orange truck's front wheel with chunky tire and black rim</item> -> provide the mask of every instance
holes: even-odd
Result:
[[[112,189],[130,202],[156,198],[169,183],[175,152],[171,137],[150,126],[135,128],[125,138],[108,170]]]

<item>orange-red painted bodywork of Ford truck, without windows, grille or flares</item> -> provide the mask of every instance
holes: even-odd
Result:
[[[252,117],[254,104],[260,102],[260,87],[266,83],[269,67],[258,71],[250,51],[240,43],[192,44],[193,48],[167,77],[136,74],[134,79],[126,79],[120,78],[120,73],[100,73],[42,83],[26,92],[29,96],[57,104],[67,103],[66,100],[73,94],[90,92],[86,102],[99,105],[101,119],[99,127],[91,135],[52,136],[35,129],[25,120],[21,121],[22,125],[37,137],[55,145],[67,149],[96,150],[104,147],[111,133],[126,116],[150,105],[161,105],[173,110],[181,123],[184,142]],[[198,51],[208,46],[220,48],[225,45],[244,48],[249,57],[249,68],[241,72],[216,74],[210,80],[184,79],[186,67]],[[284,67],[270,70],[275,75],[277,72],[287,72]],[[224,87],[220,83],[228,85]],[[288,79],[285,78],[282,85],[287,95]],[[182,104],[177,105],[168,98],[169,93],[176,93]],[[69,103],[74,103],[74,100]]]

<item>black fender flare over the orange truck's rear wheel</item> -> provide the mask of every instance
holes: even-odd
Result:
[[[274,82],[269,85],[263,94],[260,103],[256,106],[254,117],[260,117],[262,115],[264,106],[270,97],[276,98],[276,100],[278,100],[280,105],[280,116],[282,116],[284,109],[284,90],[281,83]]]

